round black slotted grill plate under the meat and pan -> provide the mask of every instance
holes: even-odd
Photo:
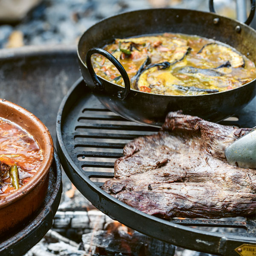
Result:
[[[254,126],[254,120],[246,118],[245,114],[252,113],[253,108],[255,99],[241,111],[238,121],[227,120],[223,124]],[[245,241],[256,243],[253,234],[255,219],[175,218],[166,221],[129,207],[104,192],[100,186],[113,177],[114,160],[122,156],[124,145],[135,137],[152,134],[158,129],[128,121],[109,111],[89,92],[82,79],[76,81],[63,99],[56,125],[58,154],[64,171],[79,191],[111,218],[145,235],[206,253],[231,255]],[[233,227],[247,232],[217,233],[192,227]]]

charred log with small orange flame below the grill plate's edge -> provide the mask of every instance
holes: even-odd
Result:
[[[84,248],[99,255],[114,256],[173,256],[175,247],[145,236],[137,231],[112,221],[105,230],[87,233],[82,236]]]

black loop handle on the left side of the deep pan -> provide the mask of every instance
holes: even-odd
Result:
[[[96,73],[93,69],[93,65],[91,62],[91,56],[94,53],[98,53],[100,55],[103,55],[105,58],[107,58],[109,61],[111,61],[115,67],[117,68],[117,70],[120,72],[122,79],[124,79],[125,82],[125,88],[121,91],[119,91],[117,93],[117,97],[121,100],[124,100],[126,98],[126,96],[128,95],[130,88],[131,88],[131,83],[130,83],[130,79],[124,69],[124,67],[122,66],[122,64],[109,52],[105,51],[102,48],[91,48],[87,54],[86,54],[86,66],[88,68],[88,71],[90,73],[91,78],[93,79],[94,84],[96,85],[96,88],[99,90],[104,90],[104,85],[102,84],[101,81],[99,81],[98,77],[96,76]]]

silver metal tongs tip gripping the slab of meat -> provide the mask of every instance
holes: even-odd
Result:
[[[230,165],[256,169],[256,128],[229,145],[225,156]]]

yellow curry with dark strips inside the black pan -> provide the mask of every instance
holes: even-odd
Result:
[[[125,68],[131,88],[163,95],[201,95],[231,90],[256,76],[255,64],[236,49],[194,35],[164,33],[115,39],[104,47]],[[96,74],[124,86],[105,57],[94,54]]]

